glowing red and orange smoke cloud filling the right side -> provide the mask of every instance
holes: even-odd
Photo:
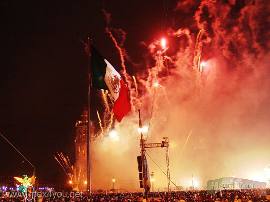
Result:
[[[93,189],[112,188],[113,176],[116,189],[139,189],[137,110],[148,126],[160,53],[147,142],[169,137],[172,181],[189,187],[194,175],[196,185],[203,189],[207,180],[225,176],[264,180],[263,168],[270,162],[269,4],[188,0],[179,1],[174,12],[179,18],[187,14],[192,23],[168,28],[166,48],[160,49],[160,41],[140,43],[148,47],[145,58],[155,64],[145,61],[147,69],[136,75],[138,99],[132,75],[124,70],[133,111],[122,123],[114,123],[117,137],[107,130],[103,139],[92,142]],[[109,24],[110,14],[105,14]],[[108,30],[113,34],[113,29]],[[120,43],[118,50],[123,47]],[[129,60],[126,49],[123,53]],[[147,153],[166,173],[165,148],[151,148]],[[163,190],[166,176],[148,156],[147,161],[155,175],[155,190]]]

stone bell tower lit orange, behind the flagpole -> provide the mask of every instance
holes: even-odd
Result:
[[[75,170],[78,188],[80,191],[87,189],[87,109],[84,108],[81,120],[76,121],[75,142]],[[94,126],[90,122],[91,134],[94,134]]]

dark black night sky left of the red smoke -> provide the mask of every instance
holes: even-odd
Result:
[[[120,70],[101,9],[111,12],[113,25],[129,32],[127,44],[132,48],[160,30],[163,2],[0,4],[0,132],[32,162],[38,178],[48,178],[61,172],[53,158],[57,151],[73,157],[74,124],[86,104],[87,57],[79,39],[86,41],[89,35],[100,53]],[[142,60],[139,51],[132,53],[136,60]],[[3,139],[0,148],[0,170],[21,173],[19,154]],[[31,174],[28,163],[24,170]]]

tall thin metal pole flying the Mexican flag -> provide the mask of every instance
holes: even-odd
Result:
[[[92,79],[91,79],[91,44],[92,40],[90,40],[88,36],[88,68],[87,68],[87,88],[88,88],[88,105],[87,105],[87,193],[90,195],[92,193],[91,187],[91,150],[90,150],[90,143],[91,143],[91,127],[90,127],[90,116],[91,116],[91,86],[92,86]]]

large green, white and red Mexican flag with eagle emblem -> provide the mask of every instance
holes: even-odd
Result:
[[[112,112],[118,122],[131,110],[128,88],[120,74],[91,46],[92,86],[109,90],[115,100]]]

